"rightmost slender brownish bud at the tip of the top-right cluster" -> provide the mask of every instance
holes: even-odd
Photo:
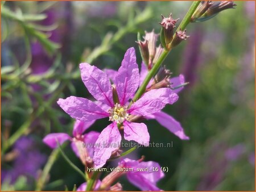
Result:
[[[210,6],[203,16],[212,16],[225,9],[234,9],[234,6],[236,6],[236,4],[233,1],[221,1],[214,3],[214,5]]]

